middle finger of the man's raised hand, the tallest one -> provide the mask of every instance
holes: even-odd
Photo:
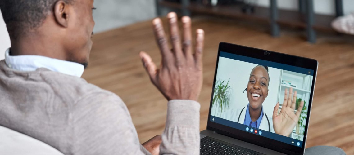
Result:
[[[181,38],[179,37],[177,14],[175,12],[170,12],[167,14],[167,18],[169,19],[170,24],[170,37],[174,49],[173,52],[175,53],[177,59],[179,59],[180,56],[182,56],[182,48]]]

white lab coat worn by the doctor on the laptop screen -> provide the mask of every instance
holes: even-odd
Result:
[[[227,119],[227,120],[230,120],[230,121],[233,121],[236,123],[244,124],[247,107],[244,108],[242,113],[241,113],[241,111],[242,111],[242,109],[228,109],[221,114],[221,118]],[[262,117],[261,124],[259,125],[258,129],[261,129],[264,131],[269,131],[269,127],[270,127],[270,132],[275,133],[274,129],[273,129],[273,118],[272,118],[273,114],[272,115],[267,114],[267,116],[268,116],[268,120],[269,120],[269,126],[268,126],[268,120],[265,117],[265,112],[263,111],[263,117]],[[239,119],[239,117],[240,117],[240,119]],[[293,138],[292,133],[290,134],[289,137]]]

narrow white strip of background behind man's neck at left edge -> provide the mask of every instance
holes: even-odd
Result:
[[[6,25],[0,12],[0,60],[5,59],[5,50],[10,46],[10,37],[8,36]]]

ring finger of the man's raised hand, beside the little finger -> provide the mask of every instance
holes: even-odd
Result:
[[[184,55],[192,57],[192,22],[188,16],[182,17],[183,23],[183,51]]]

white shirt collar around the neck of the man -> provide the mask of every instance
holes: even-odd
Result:
[[[10,48],[5,52],[6,65],[18,71],[35,71],[38,68],[47,68],[48,70],[81,77],[85,67],[76,62],[64,61],[48,58],[40,55],[9,55]]]

